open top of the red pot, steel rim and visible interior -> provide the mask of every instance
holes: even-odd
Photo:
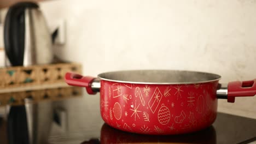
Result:
[[[180,85],[218,81],[220,75],[189,70],[122,70],[98,75],[105,81],[146,85]]]

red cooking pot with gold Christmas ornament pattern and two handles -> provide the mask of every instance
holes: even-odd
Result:
[[[256,79],[219,84],[220,76],[196,71],[130,70],[98,78],[67,73],[71,86],[100,92],[101,116],[110,126],[138,134],[171,135],[209,127],[217,98],[254,96]]]

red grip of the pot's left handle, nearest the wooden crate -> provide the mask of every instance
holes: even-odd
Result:
[[[82,76],[75,73],[67,72],[65,75],[65,81],[70,86],[85,87],[88,94],[96,94],[92,91],[91,83],[96,79],[92,76]]]

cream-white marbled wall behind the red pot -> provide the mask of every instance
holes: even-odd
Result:
[[[61,0],[40,4],[48,22],[65,19],[56,54],[96,76],[124,69],[217,73],[221,82],[256,78],[256,1]],[[98,103],[98,101],[95,101]],[[256,97],[219,100],[219,111],[254,117]]]

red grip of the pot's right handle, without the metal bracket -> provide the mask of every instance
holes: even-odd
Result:
[[[235,97],[253,97],[256,94],[256,79],[233,81],[228,84],[228,102],[234,103]]]

